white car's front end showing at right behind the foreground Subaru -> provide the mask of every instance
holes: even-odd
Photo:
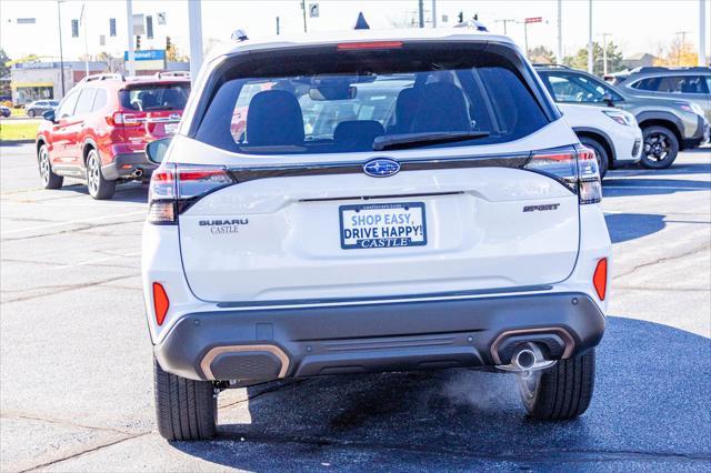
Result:
[[[608,169],[637,164],[642,154],[642,130],[632,113],[611,107],[559,103],[580,142],[595,152],[600,177]]]

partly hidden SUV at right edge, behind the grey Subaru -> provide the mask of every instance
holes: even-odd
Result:
[[[711,68],[637,68],[613,83],[634,97],[689,101],[711,121]]]

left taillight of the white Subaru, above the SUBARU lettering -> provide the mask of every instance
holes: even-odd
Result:
[[[162,164],[151,175],[148,221],[178,223],[178,215],[206,194],[236,181],[221,165]]]

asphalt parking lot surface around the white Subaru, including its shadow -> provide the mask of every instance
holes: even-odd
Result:
[[[530,421],[510,375],[313,379],[229,391],[220,435],[156,432],[140,289],[147,188],[40,189],[0,147],[0,470],[711,469],[711,148],[610,172],[610,318],[592,405]]]

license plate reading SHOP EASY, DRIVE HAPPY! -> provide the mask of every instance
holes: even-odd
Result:
[[[341,205],[339,212],[343,250],[427,244],[422,202]]]

